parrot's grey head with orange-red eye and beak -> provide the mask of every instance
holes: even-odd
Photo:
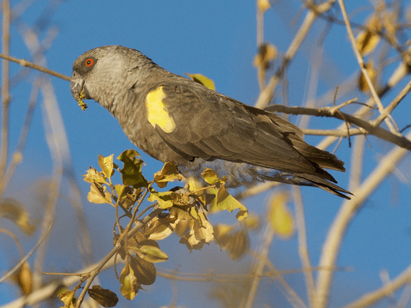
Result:
[[[144,77],[140,68],[149,63],[153,62],[136,49],[117,45],[91,49],[73,63],[71,94],[83,110],[87,106],[82,100],[94,99],[112,112],[115,98],[129,89],[130,82],[138,84]]]

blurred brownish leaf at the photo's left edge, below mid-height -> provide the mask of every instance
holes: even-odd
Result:
[[[0,217],[11,220],[27,235],[32,235],[36,230],[36,226],[29,222],[29,211],[27,211],[23,203],[14,198],[0,200]]]

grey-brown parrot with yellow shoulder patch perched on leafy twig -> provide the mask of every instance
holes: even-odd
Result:
[[[299,127],[175,75],[136,49],[108,45],[77,57],[71,94],[105,107],[133,144],[186,178],[212,168],[227,176],[228,188],[278,181],[350,198],[325,170],[345,172],[344,162],[306,143]]]

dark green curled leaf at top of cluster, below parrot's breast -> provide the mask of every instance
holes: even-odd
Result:
[[[123,169],[121,172],[121,179],[123,183],[127,186],[134,186],[134,188],[147,187],[149,184],[145,177],[141,173],[142,160],[140,155],[135,150],[126,150],[120,154],[117,159],[121,160],[124,163]]]

